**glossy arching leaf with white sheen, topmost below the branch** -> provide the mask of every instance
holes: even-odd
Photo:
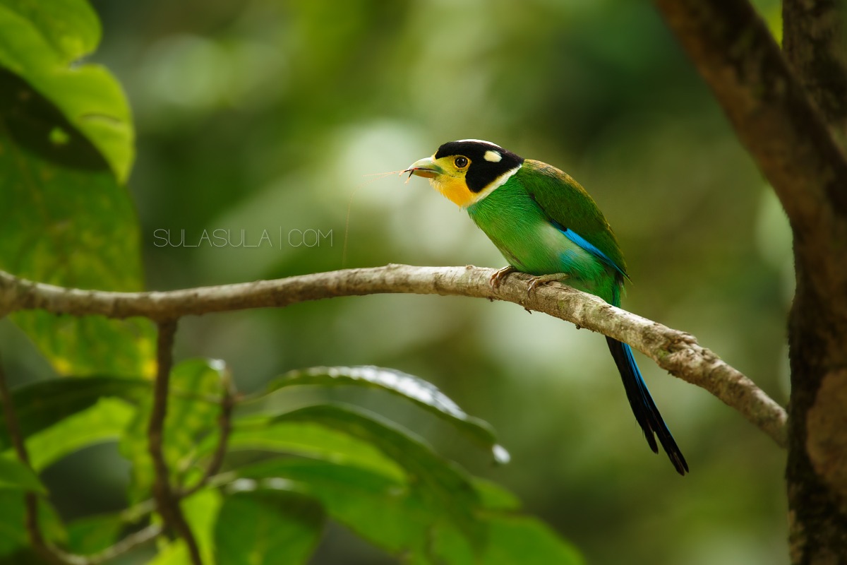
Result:
[[[378,388],[402,396],[423,407],[430,413],[470,435],[483,446],[489,448],[497,463],[508,463],[509,453],[497,445],[494,430],[490,424],[468,416],[449,396],[432,383],[411,374],[392,368],[373,366],[363,367],[314,367],[291,371],[268,385],[267,392],[279,391],[295,385],[355,385]]]

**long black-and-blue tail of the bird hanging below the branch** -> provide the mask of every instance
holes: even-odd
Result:
[[[677,442],[673,440],[673,435],[664,420],[656,403],[653,402],[650,391],[647,390],[647,384],[641,377],[638,365],[635,364],[633,351],[625,343],[613,340],[611,337],[606,337],[606,343],[609,345],[609,351],[612,352],[612,357],[615,359],[617,370],[621,373],[623,380],[623,388],[627,391],[627,399],[629,406],[632,407],[635,419],[638,420],[641,429],[644,430],[647,443],[650,444],[650,449],[654,453],[659,452],[656,446],[656,436],[659,438],[659,443],[667,453],[673,466],[677,468],[678,474],[685,474],[688,469],[688,463],[685,463],[682,451],[679,451]]]

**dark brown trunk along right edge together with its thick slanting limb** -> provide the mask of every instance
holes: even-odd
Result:
[[[847,117],[844,14],[833,0],[785,0],[783,55],[748,3],[656,4],[789,216],[790,555],[847,563],[847,162],[836,141]]]

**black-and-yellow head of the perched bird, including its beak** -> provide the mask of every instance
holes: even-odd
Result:
[[[445,143],[404,172],[428,178],[451,202],[467,208],[509,180],[522,164],[522,157],[490,141],[463,139]]]

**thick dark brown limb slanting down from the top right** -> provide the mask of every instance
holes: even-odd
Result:
[[[776,191],[795,245],[827,273],[833,234],[847,239],[847,160],[767,26],[744,0],[656,5]]]

